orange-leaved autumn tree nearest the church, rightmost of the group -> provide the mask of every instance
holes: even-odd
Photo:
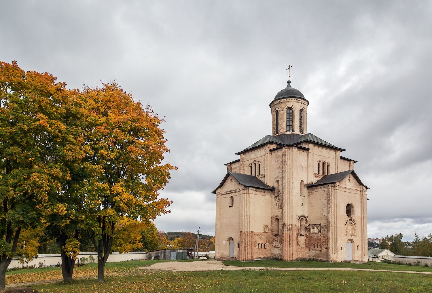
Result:
[[[135,101],[115,82],[80,92],[87,113],[83,131],[88,151],[84,161],[93,167],[83,189],[84,226],[98,253],[98,281],[104,281],[105,263],[124,217],[154,220],[168,213],[172,203],[159,197],[170,178],[162,164],[165,131],[162,119],[149,106]]]

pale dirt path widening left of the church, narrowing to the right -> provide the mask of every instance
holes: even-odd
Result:
[[[234,270],[280,270],[280,271],[388,271],[396,273],[412,274],[432,274],[432,272],[421,271],[391,271],[391,270],[373,270],[368,268],[260,268],[260,267],[234,267],[224,265],[222,261],[167,261],[158,262],[154,265],[142,267],[146,270],[164,270],[164,271],[227,271]]]

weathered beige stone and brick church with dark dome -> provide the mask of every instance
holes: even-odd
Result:
[[[288,86],[270,103],[272,135],[238,152],[216,194],[216,259],[367,261],[366,189],[343,148],[308,133]]]

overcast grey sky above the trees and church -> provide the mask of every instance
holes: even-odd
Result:
[[[7,1],[0,60],[70,88],[116,80],[165,116],[160,230],[215,232],[223,164],[271,134],[286,87],[308,132],[347,151],[368,190],[368,237],[432,233],[431,1]]]

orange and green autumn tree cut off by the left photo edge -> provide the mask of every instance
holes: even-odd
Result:
[[[0,62],[0,289],[22,229],[41,224],[70,178],[67,165],[83,158],[69,105],[51,74]]]

